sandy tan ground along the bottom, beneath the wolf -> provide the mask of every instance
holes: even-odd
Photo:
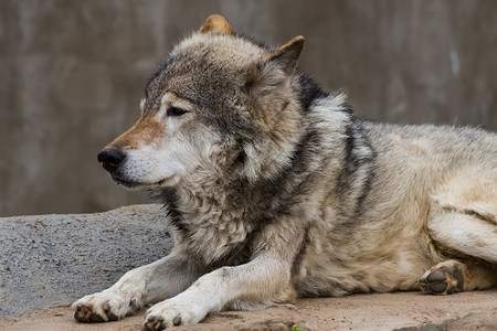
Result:
[[[80,324],[67,307],[0,319],[0,330],[135,331],[144,313],[121,321]],[[175,330],[497,330],[497,289],[431,296],[420,292],[300,299],[295,309],[220,312]]]

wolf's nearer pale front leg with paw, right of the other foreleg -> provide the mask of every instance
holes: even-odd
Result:
[[[178,296],[150,308],[145,329],[163,330],[198,323],[208,313],[220,311],[234,301],[267,307],[285,300],[289,279],[290,264],[269,254],[245,265],[222,267],[202,276]]]

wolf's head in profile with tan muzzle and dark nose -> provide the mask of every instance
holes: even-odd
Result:
[[[180,185],[226,172],[271,178],[302,132],[294,75],[304,38],[266,47],[220,15],[179,43],[150,78],[138,121],[98,154],[128,188]]]

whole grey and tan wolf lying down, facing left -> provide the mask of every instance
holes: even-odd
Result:
[[[497,285],[497,135],[360,120],[296,68],[303,45],[212,15],[173,49],[98,159],[167,205],[175,247],[76,301],[76,320],[155,303],[145,329],[162,330],[298,297]]]

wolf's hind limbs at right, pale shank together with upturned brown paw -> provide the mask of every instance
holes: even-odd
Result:
[[[436,295],[470,291],[497,286],[497,224],[495,212],[434,205],[427,227],[445,255],[464,256],[466,263],[451,259],[427,270],[420,279],[423,290]],[[491,216],[491,217],[489,217]]]

